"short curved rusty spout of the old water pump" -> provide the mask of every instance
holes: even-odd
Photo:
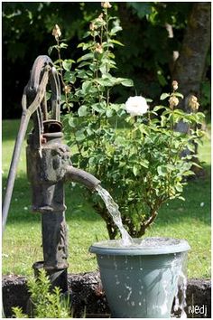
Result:
[[[84,184],[91,191],[94,191],[100,181],[92,175],[88,174],[86,171],[75,168],[72,165],[67,166],[66,174],[64,176],[65,181],[73,181],[76,183]]]

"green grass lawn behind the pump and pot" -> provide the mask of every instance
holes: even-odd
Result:
[[[3,188],[9,171],[18,120],[3,121]],[[25,145],[25,144],[24,144]],[[165,236],[187,239],[190,243],[189,278],[210,278],[210,141],[205,138],[199,148],[200,159],[205,161],[206,176],[190,181],[185,202],[173,201],[165,205],[147,236]],[[40,214],[32,213],[30,184],[25,174],[23,146],[13,199],[3,239],[3,274],[32,274],[32,263],[42,259]],[[98,178],[98,177],[97,177]],[[104,184],[104,182],[103,182]],[[87,272],[97,268],[89,246],[107,239],[104,221],[85,203],[79,186],[66,186],[66,219],[69,229],[69,272]]]

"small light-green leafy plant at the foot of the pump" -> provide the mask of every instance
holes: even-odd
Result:
[[[61,296],[60,288],[54,287],[51,292],[51,281],[45,270],[41,270],[38,278],[30,278],[27,283],[31,293],[32,317],[37,318],[69,318],[70,306],[68,297]],[[16,318],[27,318],[22,308],[13,307]]]

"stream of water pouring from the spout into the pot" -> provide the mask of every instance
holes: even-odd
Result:
[[[121,220],[121,213],[119,212],[118,205],[113,200],[111,195],[104,188],[102,188],[101,185],[99,184],[97,185],[96,191],[105,202],[108,212],[111,214],[113,221],[116,223],[116,226],[121,232],[123,245],[124,246],[131,245],[133,243],[133,240],[128,234],[128,232],[125,230],[125,227]]]

